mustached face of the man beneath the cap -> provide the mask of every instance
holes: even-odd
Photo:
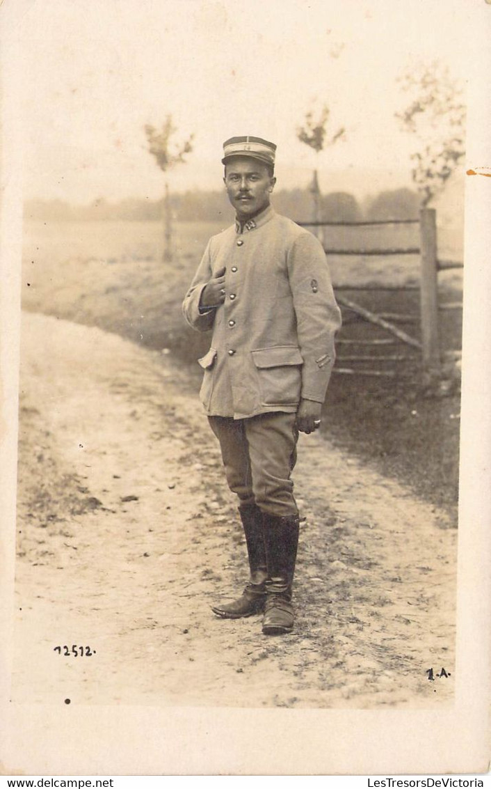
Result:
[[[251,219],[270,204],[276,178],[266,164],[247,156],[237,156],[225,165],[225,186],[239,219]]]

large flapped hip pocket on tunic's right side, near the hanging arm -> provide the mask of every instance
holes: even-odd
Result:
[[[303,365],[297,346],[274,346],[251,351],[259,379],[262,406],[296,406],[300,399]]]

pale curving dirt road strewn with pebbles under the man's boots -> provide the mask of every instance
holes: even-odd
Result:
[[[184,371],[116,335],[28,314],[20,405],[13,699],[452,701],[456,529],[441,528],[445,514],[326,436],[301,436],[296,630],[267,638],[259,617],[210,611],[242,587],[246,559]],[[92,654],[64,656],[64,645]],[[449,676],[431,682],[430,667]]]

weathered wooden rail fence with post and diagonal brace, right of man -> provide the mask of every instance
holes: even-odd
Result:
[[[404,342],[411,349],[416,349],[419,353],[420,365],[422,368],[422,375],[424,380],[435,380],[441,376],[441,342],[440,342],[440,317],[442,310],[448,309],[461,309],[462,304],[457,302],[448,302],[441,304],[438,297],[438,274],[441,271],[447,271],[451,268],[462,268],[461,262],[453,260],[440,260],[438,258],[437,250],[437,213],[434,208],[424,208],[420,211],[419,219],[393,219],[393,220],[380,220],[378,222],[299,222],[299,224],[306,227],[334,227],[334,226],[382,226],[382,225],[419,225],[419,245],[407,246],[404,248],[384,248],[384,249],[332,249],[325,247],[327,255],[351,255],[351,256],[393,256],[393,255],[419,255],[420,256],[420,272],[419,272],[419,285],[385,285],[385,284],[345,284],[343,286],[335,287],[337,293],[337,301],[340,305],[348,308],[363,320],[374,324],[392,337],[397,338],[398,341]],[[370,311],[369,309],[357,304],[351,298],[348,298],[340,293],[343,290],[376,290],[376,291],[391,291],[391,290],[418,290],[419,291],[419,316],[400,316],[392,315],[391,313],[379,313]],[[405,319],[408,321],[419,320],[421,340],[418,340],[407,332],[397,327],[393,320]],[[389,320],[390,319],[390,320]],[[365,339],[365,340],[340,340],[344,343],[354,343],[357,345],[365,346],[381,346],[389,344],[392,340],[378,338],[378,339]],[[370,357],[366,356],[351,356],[341,357],[350,361],[368,361]],[[392,356],[377,356],[372,357],[373,360],[384,361],[402,361],[407,357],[400,353],[392,354]],[[337,368],[337,372],[356,372],[353,369]],[[358,371],[366,375],[391,375],[394,372],[380,372],[375,369]]]

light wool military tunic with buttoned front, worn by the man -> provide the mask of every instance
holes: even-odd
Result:
[[[203,289],[223,267],[225,303],[203,309]],[[210,238],[183,312],[195,330],[213,330],[199,360],[209,416],[296,413],[300,398],[324,401],[340,327],[325,253],[271,206]]]

